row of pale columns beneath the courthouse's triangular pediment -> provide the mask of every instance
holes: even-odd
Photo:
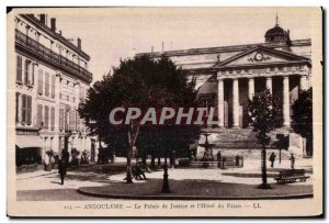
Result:
[[[218,73],[219,74],[219,73]],[[265,80],[262,85],[265,85],[264,87],[266,87],[266,89],[270,89],[271,93],[275,93],[275,96],[277,96],[277,89],[280,89],[280,94],[282,96],[282,120],[283,120],[283,126],[284,127],[291,127],[291,103],[293,103],[293,99],[291,99],[292,97],[292,87],[291,85],[294,85],[293,81],[294,78],[296,78],[296,75],[292,75],[291,74],[286,74],[286,75],[279,75],[279,76],[271,76],[271,77],[263,77]],[[279,79],[279,77],[282,77],[282,79]],[[245,78],[245,77],[242,77]],[[293,78],[292,80],[290,80],[290,78]],[[245,80],[248,79],[248,85]],[[236,78],[236,77],[227,77],[227,78],[222,78],[222,77],[217,77],[218,80],[218,94],[217,94],[217,99],[218,99],[218,126],[219,127],[232,127],[232,129],[240,129],[243,126],[248,126],[248,124],[246,125],[246,116],[241,116],[241,114],[243,115],[243,112],[247,112],[248,107],[246,105],[246,103],[243,104],[241,100],[247,99],[247,96],[245,96],[243,93],[248,93],[248,99],[252,100],[252,97],[256,93],[256,80],[254,77],[250,77],[250,78]],[[275,88],[276,90],[274,90],[273,92],[273,79],[275,80],[275,82],[277,83],[279,80],[282,81],[282,88]],[[225,83],[225,81],[227,81]],[[231,81],[231,85],[229,85],[229,82]],[[240,82],[242,81],[242,82]],[[246,83],[245,86],[245,90],[242,89],[241,85],[243,86],[243,82]],[[240,85],[241,83],[241,85]],[[258,82],[258,86],[261,83]],[[297,83],[298,85],[298,83]],[[240,89],[241,87],[241,89]],[[258,87],[259,88],[259,87]],[[282,90],[281,90],[282,89]],[[308,89],[308,80],[307,80],[307,76],[306,75],[299,75],[299,89],[300,90],[307,90]],[[225,98],[225,92],[230,92],[229,94],[226,94]],[[241,94],[242,93],[242,94]],[[227,98],[229,97],[229,98]],[[231,97],[231,98],[230,98]],[[228,105],[227,104],[231,104]],[[226,109],[225,109],[226,108]],[[228,114],[228,113],[230,114]],[[248,113],[248,112],[247,112]],[[231,119],[228,119],[228,115],[231,115]],[[246,114],[245,114],[246,115]],[[228,119],[228,120],[227,120]],[[226,123],[226,124],[225,124]],[[243,124],[245,123],[245,124]]]

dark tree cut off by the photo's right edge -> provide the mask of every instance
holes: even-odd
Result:
[[[306,138],[306,154],[313,156],[313,90],[302,90],[292,105],[292,127]]]

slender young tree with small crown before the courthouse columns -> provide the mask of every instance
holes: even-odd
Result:
[[[256,93],[249,101],[249,122],[256,132],[258,143],[262,145],[262,185],[260,188],[270,188],[266,176],[266,146],[271,142],[271,132],[279,125],[275,119],[279,107],[269,89]]]

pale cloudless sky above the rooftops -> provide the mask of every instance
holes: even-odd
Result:
[[[39,9],[38,9],[39,10]],[[279,24],[292,40],[311,37],[306,8],[98,8],[43,10],[66,38],[82,40],[89,70],[100,80],[121,58],[136,53],[263,43]]]

